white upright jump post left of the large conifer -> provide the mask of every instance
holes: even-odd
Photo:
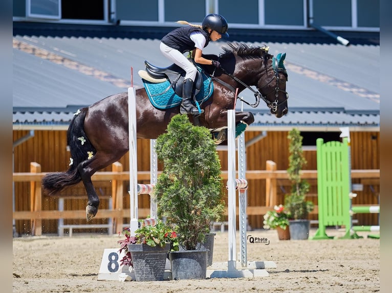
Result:
[[[136,132],[136,89],[128,88],[129,119],[129,200],[130,200],[130,235],[138,229],[138,168],[137,132]]]

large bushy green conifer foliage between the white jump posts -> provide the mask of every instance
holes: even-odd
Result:
[[[174,116],[157,138],[163,171],[155,186],[158,212],[176,225],[185,250],[195,250],[223,214],[221,163],[210,132]]]

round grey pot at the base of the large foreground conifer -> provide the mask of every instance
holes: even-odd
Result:
[[[173,280],[205,279],[207,249],[182,250],[169,253]]]

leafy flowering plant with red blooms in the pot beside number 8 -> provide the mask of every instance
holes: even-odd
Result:
[[[133,266],[132,257],[128,251],[128,244],[146,244],[151,247],[164,247],[166,243],[170,243],[170,251],[179,250],[177,232],[170,225],[166,225],[161,219],[157,220],[155,226],[143,226],[143,220],[139,222],[141,223],[141,227],[135,231],[135,236],[130,236],[130,229],[124,228],[122,234],[125,236],[125,239],[117,241],[120,244],[119,253],[122,251],[125,252],[124,257],[120,260],[121,265]]]

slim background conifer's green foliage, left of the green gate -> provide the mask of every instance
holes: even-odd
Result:
[[[292,182],[292,189],[291,193],[285,197],[285,208],[290,213],[290,218],[306,219],[314,205],[305,199],[310,185],[306,180],[302,180],[300,175],[302,166],[307,163],[302,152],[302,136],[298,129],[293,128],[289,132],[288,138],[290,139],[290,156],[287,172]]]

